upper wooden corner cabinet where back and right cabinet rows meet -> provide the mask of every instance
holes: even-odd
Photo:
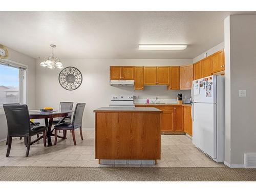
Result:
[[[190,90],[193,81],[193,64],[180,66],[180,90]]]

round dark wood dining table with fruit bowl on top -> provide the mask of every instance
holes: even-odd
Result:
[[[52,112],[42,112],[40,110],[30,110],[29,111],[29,117],[30,119],[45,119],[45,126],[47,127],[47,142],[48,146],[52,146],[51,136],[54,136],[52,129],[52,122],[53,118],[59,118],[59,123],[63,122],[67,116],[71,116],[73,113],[72,110],[56,110]],[[66,139],[61,136],[58,136],[59,138]],[[42,139],[42,136],[38,137],[36,140],[31,142],[31,144],[37,142],[38,140]]]

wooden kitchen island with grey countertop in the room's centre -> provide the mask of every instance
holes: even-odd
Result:
[[[103,107],[94,113],[95,159],[99,163],[160,159],[161,110]]]

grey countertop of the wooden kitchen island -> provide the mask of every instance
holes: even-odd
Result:
[[[154,108],[146,107],[146,108],[140,108],[140,107],[111,107],[111,106],[104,106],[102,108],[98,108],[93,111],[95,112],[127,112],[127,113],[139,113],[139,112],[145,112],[145,113],[162,113],[161,110]]]

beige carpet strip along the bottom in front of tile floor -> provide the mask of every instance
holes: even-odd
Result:
[[[256,181],[256,169],[0,167],[0,181]]]

